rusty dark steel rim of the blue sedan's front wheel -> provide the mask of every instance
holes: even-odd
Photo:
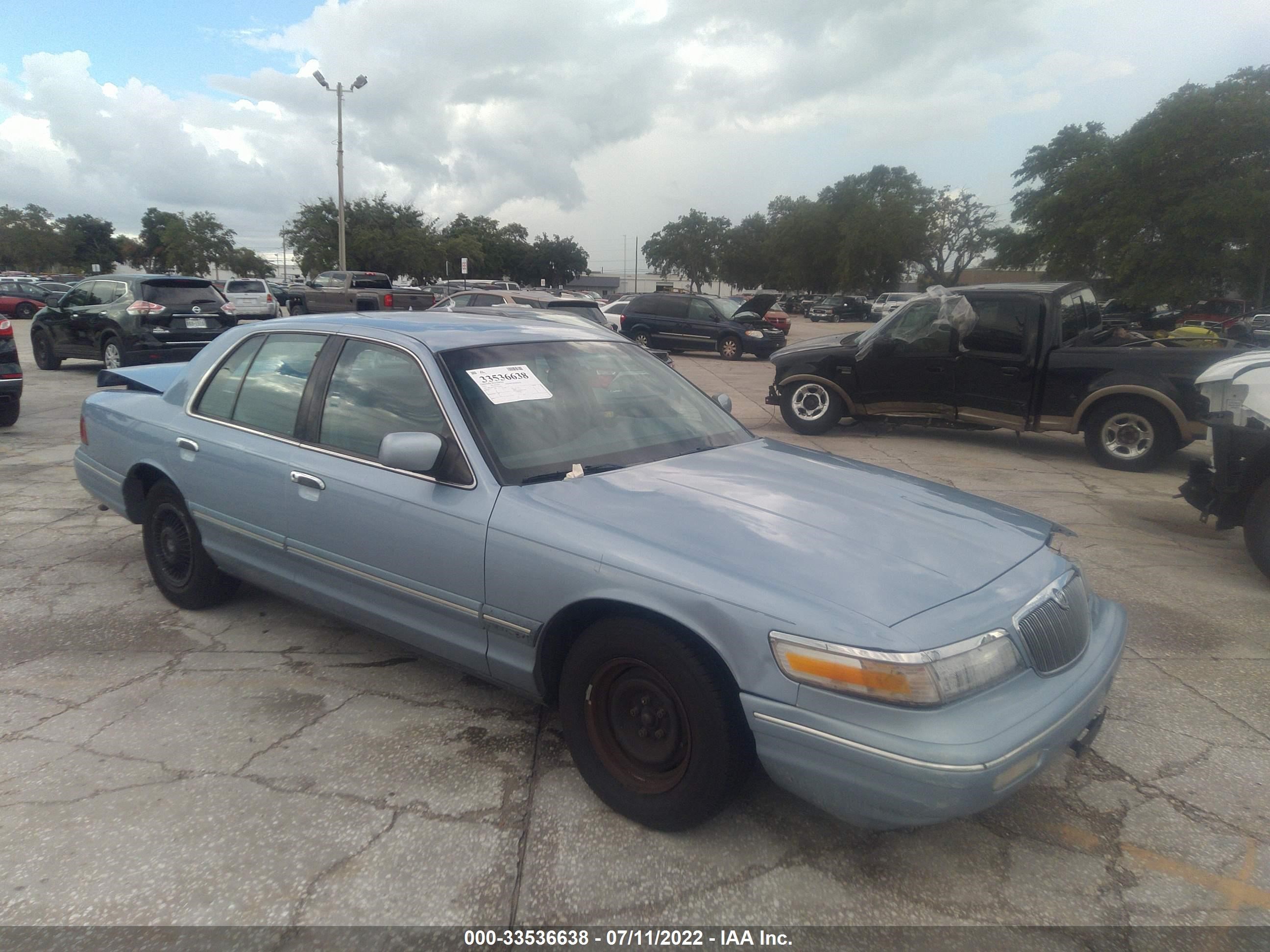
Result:
[[[692,755],[687,713],[650,665],[634,658],[601,665],[587,687],[585,721],[605,769],[627,790],[665,793],[683,779]]]

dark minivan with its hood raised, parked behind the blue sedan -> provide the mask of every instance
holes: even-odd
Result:
[[[640,294],[622,314],[622,334],[636,344],[681,350],[718,350],[725,360],[770,357],[785,335],[763,320],[776,294],[737,302],[701,294]]]

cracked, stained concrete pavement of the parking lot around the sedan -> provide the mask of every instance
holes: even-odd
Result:
[[[852,326],[792,320],[795,340]],[[1238,529],[1173,499],[1204,443],[1130,473],[1066,434],[805,438],[763,404],[767,363],[676,355],[759,435],[1071,527],[1130,631],[1093,751],[994,810],[866,833],[758,776],[662,834],[608,811],[554,716],[509,693],[255,590],[173,608],[138,527],[70,465],[100,366],[38,371],[15,327],[0,924],[1270,924],[1270,586]]]

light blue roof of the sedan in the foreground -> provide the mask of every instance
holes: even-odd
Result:
[[[513,317],[494,307],[470,307],[462,311],[410,311],[410,317],[372,317],[371,314],[373,311],[282,317],[269,321],[269,327],[331,330],[333,324],[338,324],[340,330],[352,331],[372,327],[418,340],[433,353],[490,344],[527,344],[551,340],[606,340],[612,343],[616,339],[611,330],[601,327],[598,324],[592,330],[580,325],[560,324],[547,317],[525,320],[525,317]],[[525,316],[533,316],[533,308],[526,307]]]

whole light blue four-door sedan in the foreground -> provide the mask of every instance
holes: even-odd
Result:
[[[606,330],[284,319],[99,383],[75,470],[170,602],[244,579],[558,704],[648,826],[756,758],[851,823],[937,823],[1101,726],[1125,616],[1060,527],[756,438]]]

